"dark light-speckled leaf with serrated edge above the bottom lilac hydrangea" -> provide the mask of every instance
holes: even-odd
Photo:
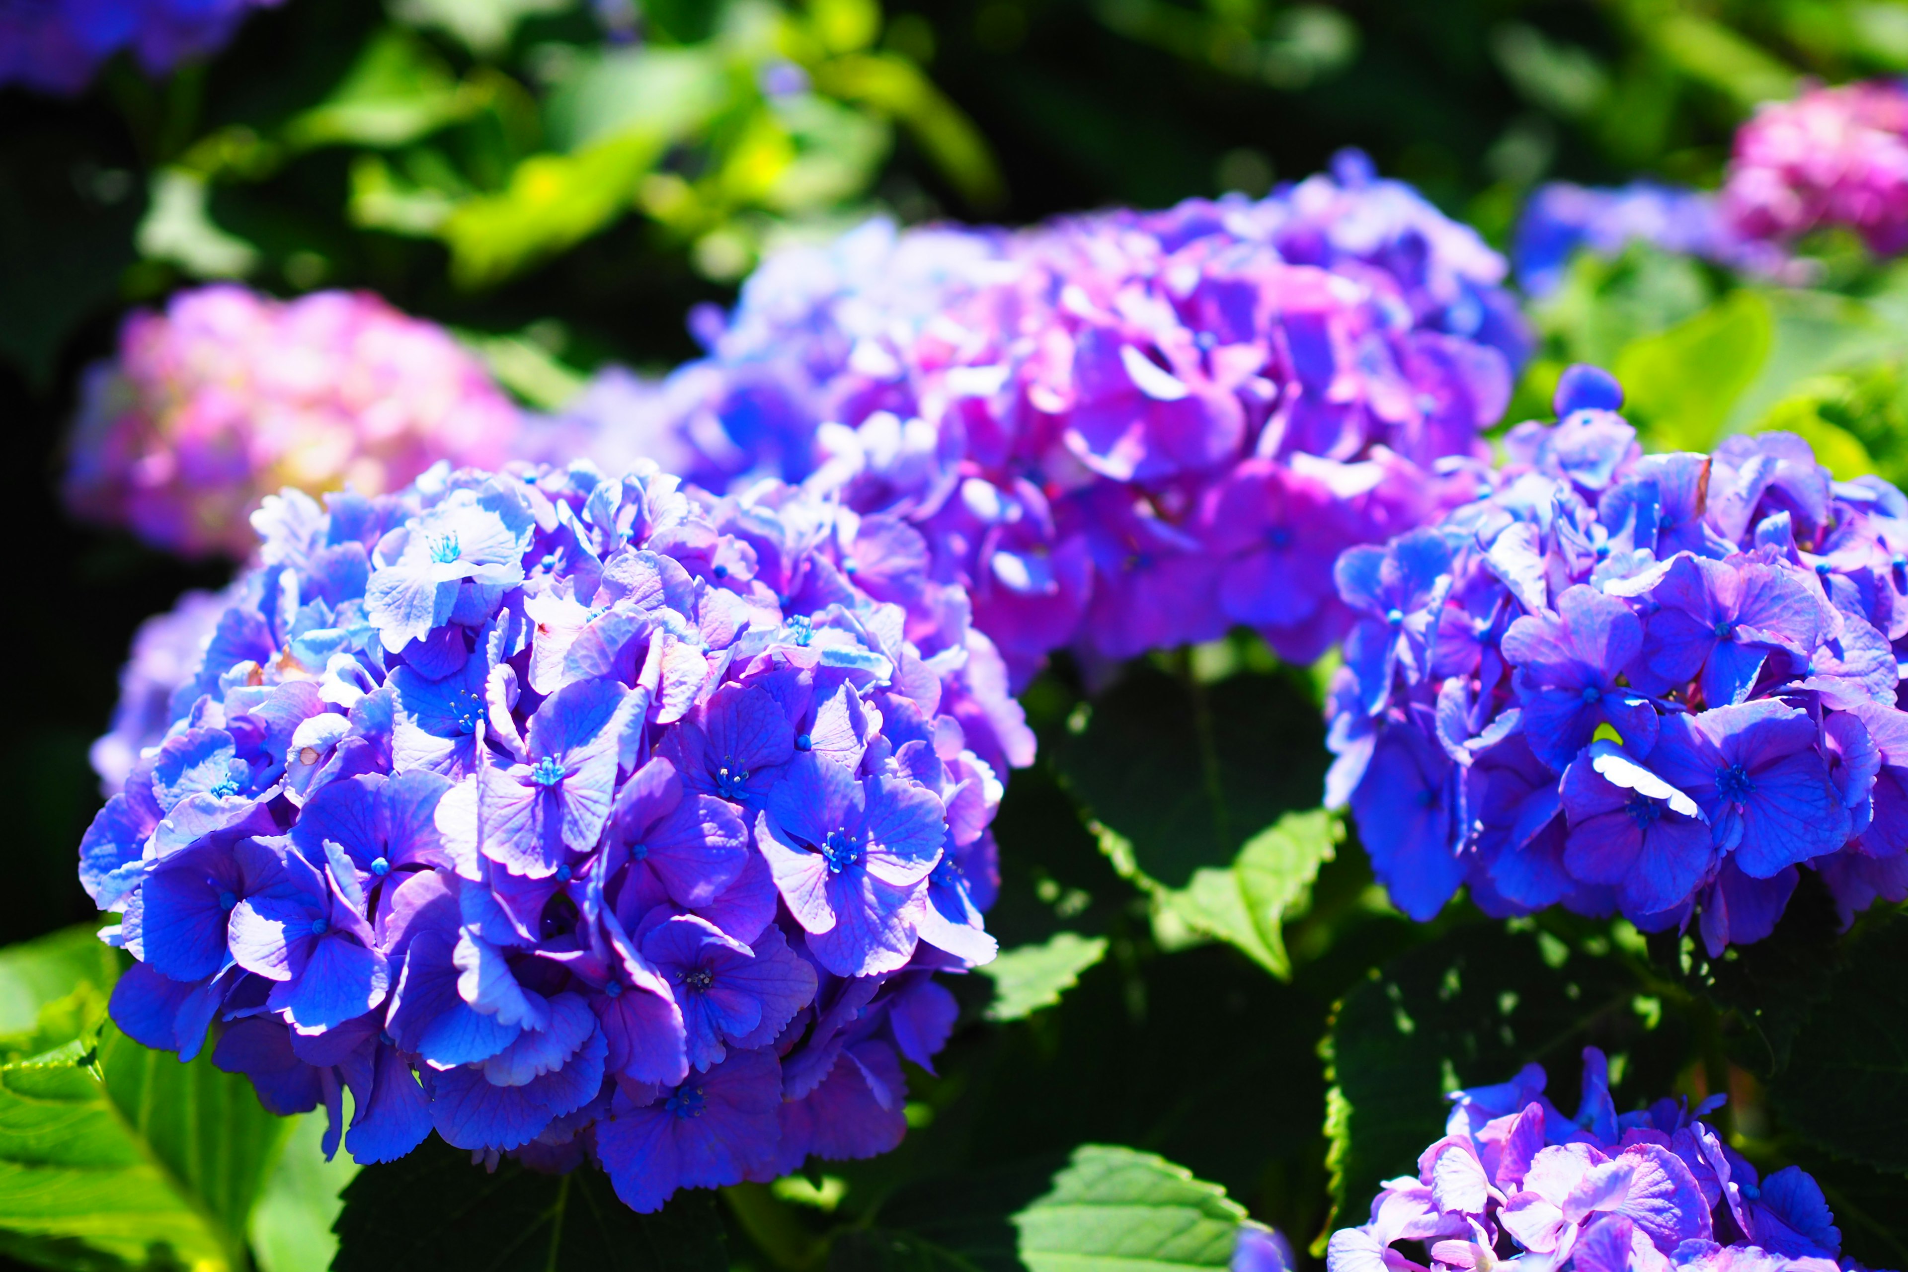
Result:
[[[1605,934],[1572,948],[1549,933],[1475,925],[1387,963],[1345,995],[1328,1037],[1339,1209],[1349,1215],[1381,1180],[1414,1169],[1444,1133],[1450,1089],[1507,1081],[1538,1060],[1555,1066],[1551,1098],[1568,1112],[1578,1051],[1593,1043],[1629,1057],[1620,1106],[1629,1089],[1668,1091],[1683,1053],[1671,1028],[1652,1032],[1643,994],[1641,971]]]

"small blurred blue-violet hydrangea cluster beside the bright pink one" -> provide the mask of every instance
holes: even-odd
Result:
[[[1742,273],[1799,280],[1788,254],[1742,233],[1723,215],[1715,195],[1660,181],[1631,181],[1614,189],[1568,181],[1540,187],[1517,221],[1511,259],[1524,292],[1549,296],[1580,248],[1614,257],[1631,242]]]

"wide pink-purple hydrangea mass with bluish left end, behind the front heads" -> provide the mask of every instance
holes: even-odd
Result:
[[[1265,200],[771,259],[628,423],[689,481],[920,528],[1015,683],[1233,624],[1317,658],[1341,547],[1439,507],[1526,334],[1502,257],[1362,154]]]

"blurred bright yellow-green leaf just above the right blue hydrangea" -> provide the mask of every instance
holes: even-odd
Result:
[[[1734,292],[1694,318],[1633,339],[1612,368],[1624,412],[1652,448],[1710,450],[1769,360],[1773,339],[1774,315],[1757,292]]]

